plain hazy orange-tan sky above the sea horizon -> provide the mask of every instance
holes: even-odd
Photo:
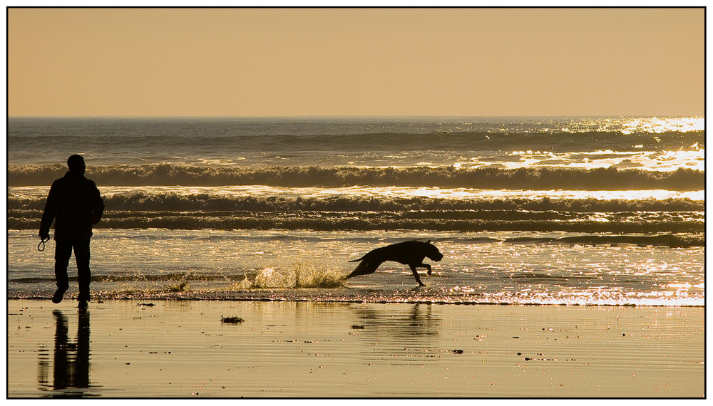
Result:
[[[9,115],[703,115],[704,9],[9,9]]]

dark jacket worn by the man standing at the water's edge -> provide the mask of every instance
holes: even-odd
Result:
[[[89,239],[93,224],[97,224],[104,212],[96,184],[82,174],[67,172],[53,182],[45,204],[40,235],[47,234],[52,220],[54,239],[79,241]]]

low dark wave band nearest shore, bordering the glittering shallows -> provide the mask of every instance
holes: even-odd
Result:
[[[39,229],[40,217],[39,211],[11,210],[8,229]],[[699,212],[106,212],[95,228],[703,233],[705,223]]]

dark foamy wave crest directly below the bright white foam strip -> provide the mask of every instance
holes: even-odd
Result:
[[[705,202],[689,198],[669,199],[552,199],[512,197],[507,199],[449,199],[433,197],[278,197],[220,196],[130,192],[104,197],[111,211],[226,211],[226,212],[384,212],[411,210],[508,210],[567,212],[702,212]],[[11,194],[10,210],[42,210],[45,197]]]

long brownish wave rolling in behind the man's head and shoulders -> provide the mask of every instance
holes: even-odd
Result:
[[[63,165],[9,165],[8,185],[48,185],[64,175]],[[261,184],[279,187],[430,186],[478,189],[572,189],[678,191],[705,188],[705,172],[679,169],[653,172],[615,167],[593,170],[537,167],[206,167],[171,165],[98,165],[87,177],[106,186],[221,186]]]

